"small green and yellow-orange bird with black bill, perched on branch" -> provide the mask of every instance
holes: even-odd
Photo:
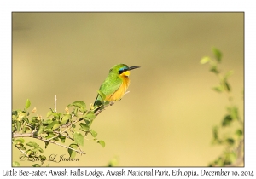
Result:
[[[108,77],[102,83],[100,91],[106,95],[105,101],[113,102],[122,99],[123,95],[130,84],[130,71],[140,66],[127,66],[125,64],[119,64],[113,66],[108,73]],[[94,102],[95,107],[99,107],[102,104],[102,96],[97,95]]]

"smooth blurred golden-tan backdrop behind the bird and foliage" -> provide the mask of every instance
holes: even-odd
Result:
[[[85,141],[79,162],[50,166],[207,166],[224,148],[212,146],[228,101],[211,90],[218,78],[200,64],[216,46],[243,116],[243,13],[13,13],[13,109],[26,99],[45,118],[49,107],[89,106],[113,65],[131,71],[130,93],[92,125],[102,148]],[[26,141],[30,139],[25,138]],[[38,141],[44,147],[44,143]],[[44,155],[66,154],[49,144]],[[20,152],[13,147],[13,160]],[[32,166],[32,162],[20,165]],[[47,165],[45,162],[44,165]]]

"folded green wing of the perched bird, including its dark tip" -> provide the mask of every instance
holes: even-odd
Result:
[[[119,89],[121,84],[123,83],[122,79],[119,78],[117,74],[109,73],[108,77],[105,79],[103,84],[100,87],[100,91],[105,95],[112,95],[116,90]],[[101,95],[97,95],[96,101],[94,102],[94,106],[100,106],[102,104]]]

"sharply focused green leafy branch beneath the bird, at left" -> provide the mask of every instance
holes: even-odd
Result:
[[[84,137],[89,134],[94,141],[105,147],[105,142],[98,140],[96,138],[97,132],[91,129],[91,124],[98,113],[95,113],[93,107],[87,110],[84,101],[74,101],[67,105],[63,113],[57,113],[55,110],[50,109],[45,118],[39,115],[31,115],[31,113],[36,112],[36,108],[30,113],[28,111],[30,105],[31,102],[26,100],[23,110],[12,112],[13,144],[27,158],[37,158],[44,161],[46,157],[42,154],[44,150],[39,147],[38,143],[33,141],[25,142],[23,137],[32,137],[44,141],[45,148],[49,143],[66,147],[71,159],[76,156],[76,153],[85,154],[80,147],[84,146]],[[61,144],[66,143],[67,139],[73,141],[72,144],[69,146]],[[13,165],[20,164],[15,161]],[[41,165],[36,164],[33,166]]]

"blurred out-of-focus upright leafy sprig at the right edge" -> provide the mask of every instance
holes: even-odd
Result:
[[[209,64],[210,72],[213,72],[219,80],[218,86],[212,88],[218,93],[225,93],[230,105],[226,108],[226,114],[221,124],[212,129],[212,143],[224,147],[222,153],[217,159],[212,161],[209,166],[234,165],[239,158],[242,158],[241,151],[243,145],[243,121],[241,120],[238,108],[233,104],[231,86],[228,82],[230,76],[234,73],[232,70],[222,74],[219,65],[222,62],[223,54],[217,48],[212,48],[213,58],[205,56],[201,59],[201,64]],[[234,126],[236,130],[234,129]],[[223,134],[225,130],[230,130],[228,134]]]

